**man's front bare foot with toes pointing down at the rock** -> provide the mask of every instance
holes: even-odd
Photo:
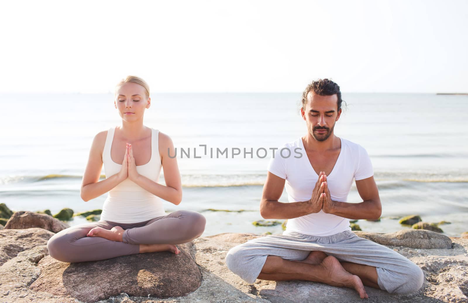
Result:
[[[369,297],[366,293],[366,289],[364,289],[361,279],[356,275],[348,273],[337,258],[328,256],[323,259],[320,266],[322,266],[329,274],[323,281],[324,283],[332,286],[354,288],[359,293],[361,299]]]

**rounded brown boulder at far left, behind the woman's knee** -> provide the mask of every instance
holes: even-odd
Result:
[[[25,229],[32,227],[40,227],[53,233],[58,233],[70,226],[49,215],[37,212],[15,212],[10,220],[8,220],[7,225],[5,225],[5,229]]]

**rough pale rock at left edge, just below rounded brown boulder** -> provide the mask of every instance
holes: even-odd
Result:
[[[0,230],[0,265],[23,250],[45,245],[54,234],[42,228]]]

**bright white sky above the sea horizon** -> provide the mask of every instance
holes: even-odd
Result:
[[[468,92],[468,1],[1,1],[0,93]]]

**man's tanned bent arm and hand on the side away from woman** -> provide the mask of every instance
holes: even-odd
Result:
[[[359,196],[363,199],[361,203],[332,201],[326,180],[327,178],[325,176],[324,191],[326,197],[322,206],[323,212],[353,220],[376,220],[380,218],[382,205],[380,204],[379,189],[377,189],[377,184],[375,184],[373,176],[356,181]]]

